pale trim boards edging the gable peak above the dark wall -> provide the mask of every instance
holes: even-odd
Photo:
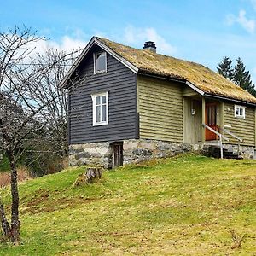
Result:
[[[103,44],[98,38],[93,37],[90,39],[89,43],[85,46],[82,53],[79,55],[78,59],[74,62],[73,67],[69,69],[67,74],[65,75],[64,79],[61,80],[60,87],[65,87],[67,84],[67,80],[70,79],[72,74],[75,72],[77,67],[79,67],[79,64],[81,61],[84,60],[85,55],[88,54],[92,46],[96,44],[100,46],[102,49],[104,49],[109,55],[112,55],[115,59],[120,61],[122,64],[125,65],[125,67],[128,67],[133,73],[138,73],[138,68],[132,65],[129,61],[126,61],[122,56],[116,54],[113,49],[110,49],[107,45]]]

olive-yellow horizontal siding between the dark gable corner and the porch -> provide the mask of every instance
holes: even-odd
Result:
[[[183,142],[183,97],[180,84],[139,76],[137,79],[141,138]]]

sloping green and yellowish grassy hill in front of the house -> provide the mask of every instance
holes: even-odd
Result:
[[[185,155],[73,188],[82,172],[20,184],[22,241],[1,255],[256,255],[254,160]]]

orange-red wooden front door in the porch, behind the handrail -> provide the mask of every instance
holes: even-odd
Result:
[[[217,126],[217,104],[207,103],[206,104],[206,125],[211,127],[213,130],[218,131]],[[206,141],[213,141],[217,139],[217,135],[206,128]]]

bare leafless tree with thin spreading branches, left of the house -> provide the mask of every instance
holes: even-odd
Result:
[[[0,154],[9,159],[12,197],[10,222],[0,198],[0,221],[3,236],[13,242],[20,240],[18,160],[39,137],[49,135],[50,122],[65,123],[67,118],[63,113],[65,93],[51,85],[61,79],[61,72],[65,72],[61,66],[73,59],[73,54],[52,51],[48,58],[35,55],[33,45],[40,40],[44,38],[26,27],[0,32]],[[52,73],[54,82],[50,80]]]

